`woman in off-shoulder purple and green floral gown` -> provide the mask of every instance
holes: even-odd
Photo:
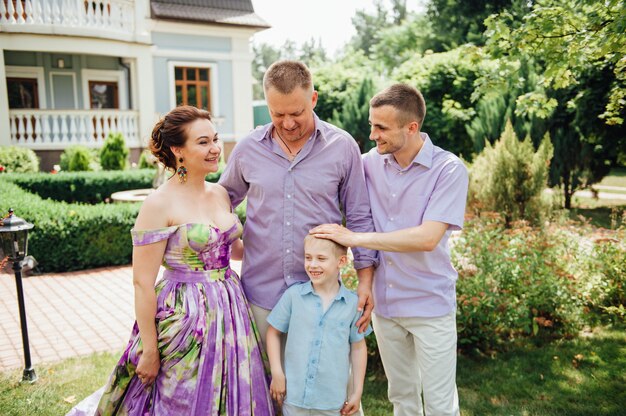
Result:
[[[272,415],[259,334],[229,267],[243,253],[241,223],[226,190],[204,180],[222,151],[209,113],[172,110],[150,149],[176,174],[131,230],[137,321],[104,391],[70,414]]]

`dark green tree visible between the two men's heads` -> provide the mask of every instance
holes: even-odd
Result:
[[[374,82],[365,78],[358,89],[353,90],[344,100],[341,109],[333,110],[331,123],[346,130],[359,144],[361,153],[369,151],[373,142],[369,139],[369,101],[375,94]]]

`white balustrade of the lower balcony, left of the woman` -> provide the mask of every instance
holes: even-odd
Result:
[[[63,149],[74,144],[100,147],[110,132],[139,147],[138,112],[123,110],[9,110],[11,144]]]

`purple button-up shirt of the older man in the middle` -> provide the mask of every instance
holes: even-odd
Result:
[[[315,116],[315,130],[293,161],[272,140],[272,125],[241,140],[219,183],[233,206],[247,196],[241,280],[248,300],[272,309],[288,286],[308,281],[304,237],[316,225],[374,231],[359,147],[345,131]],[[354,249],[357,269],[373,266],[376,252]]]

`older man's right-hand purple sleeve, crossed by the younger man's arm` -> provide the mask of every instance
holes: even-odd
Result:
[[[359,233],[374,231],[374,220],[365,185],[363,161],[357,143],[350,138],[346,155],[346,174],[339,186],[339,198],[346,216],[346,227]],[[354,247],[354,268],[364,269],[378,265],[376,250]]]

